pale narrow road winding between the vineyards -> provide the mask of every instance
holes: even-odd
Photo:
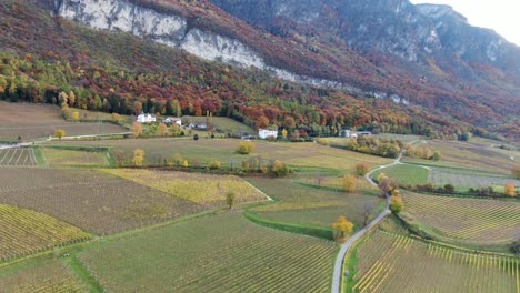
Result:
[[[412,141],[410,142],[411,144],[414,144],[416,142],[419,142],[419,141]],[[376,182],[373,182],[373,180],[370,178],[370,175],[376,172],[376,171],[379,171],[381,169],[384,169],[384,168],[389,168],[389,166],[392,166],[392,165],[397,165],[397,164],[400,164],[401,163],[401,158],[402,158],[402,154],[404,153],[404,151],[402,151],[399,156],[390,164],[386,164],[386,165],[380,165],[379,168],[376,168],[374,170],[368,172],[366,175],[364,175],[364,179],[370,182],[370,184],[374,185],[374,186],[378,186],[378,184],[376,184]],[[358,232],[356,232],[356,234],[353,234],[346,243],[341,244],[341,249],[340,249],[340,252],[338,253],[338,256],[336,259],[336,263],[334,263],[334,274],[332,276],[332,290],[331,292],[332,293],[340,293],[340,287],[341,287],[341,272],[342,272],[342,266],[343,266],[343,259],[344,259],[344,255],[347,254],[347,252],[349,251],[349,249],[352,246],[353,243],[356,243],[356,241],[358,241],[361,236],[363,236],[367,232],[369,232],[373,226],[376,226],[379,222],[381,222],[387,215],[389,215],[391,212],[389,210],[389,206],[390,206],[390,196],[388,193],[384,194],[386,198],[387,198],[387,206],[384,208],[384,211],[382,211],[378,216],[376,216],[376,219],[372,220],[372,222],[370,222],[367,226],[364,226],[363,229],[359,230]]]

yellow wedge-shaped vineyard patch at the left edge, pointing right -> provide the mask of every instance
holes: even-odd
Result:
[[[0,261],[90,238],[49,215],[0,204]]]

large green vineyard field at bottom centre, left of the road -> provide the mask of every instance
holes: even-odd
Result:
[[[79,259],[109,292],[328,292],[334,251],[227,212],[99,243]]]

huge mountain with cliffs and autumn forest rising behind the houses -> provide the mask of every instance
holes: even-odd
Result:
[[[258,93],[252,99],[254,82],[248,80],[244,91],[231,87],[229,80],[219,80],[219,90],[229,94],[223,94],[224,99],[213,90],[211,99],[219,100],[217,104],[236,99],[231,95],[239,91],[240,100],[254,100],[251,107],[261,108],[279,94],[290,101],[319,101],[317,115],[341,117],[339,120],[313,119],[313,123],[329,127],[350,123],[351,127],[373,128],[386,123],[400,125],[399,131],[403,132],[403,128],[417,130],[420,120],[421,129],[434,129],[443,137],[468,129],[484,132],[481,128],[512,133],[512,137],[519,133],[520,49],[492,31],[469,26],[449,7],[413,6],[406,0],[2,0],[0,3],[3,7],[0,29],[6,32],[0,36],[3,38],[0,49],[42,59],[49,59],[52,53],[52,58],[68,59],[74,65],[97,67],[93,71],[98,73],[107,71],[106,75],[101,74],[106,79],[103,82],[117,83],[119,88],[113,89],[117,95],[127,97],[130,103],[137,95],[164,105],[163,100],[171,97],[158,95],[158,92],[188,91],[186,95],[192,97],[208,92],[202,83],[209,87],[217,81],[204,78],[194,90],[187,77],[180,77],[174,90],[156,82],[157,88],[143,95],[130,91],[128,84],[123,84],[127,81],[117,80],[109,74],[110,70],[176,77],[184,74],[173,72],[180,69],[204,74],[214,70],[223,72],[219,74],[233,73],[232,79],[240,82],[254,75],[269,84],[278,84],[254,90]],[[17,9],[27,13],[16,13]],[[67,19],[96,31],[86,31]],[[44,26],[36,26],[34,20]],[[7,22],[33,23],[34,28],[18,28]],[[112,33],[107,34],[104,30]],[[144,43],[129,39],[129,34]],[[14,41],[18,36],[26,38]],[[121,39],[128,44],[121,43]],[[78,43],[70,46],[64,41]],[[64,48],[53,48],[52,42]],[[153,42],[163,46],[153,46]],[[212,62],[204,63],[190,54]],[[197,74],[184,75],[200,79]],[[299,89],[293,82],[303,87]],[[96,79],[90,79],[89,83],[72,82],[79,88],[86,84],[101,101],[107,98],[101,88],[108,84],[97,84]],[[156,95],[151,97],[150,92]],[[356,99],[351,100],[352,97]],[[352,103],[350,108],[347,100]],[[392,115],[407,113],[406,121],[397,123],[393,118],[370,113],[377,109],[374,102],[388,107]],[[188,108],[189,103],[186,101],[184,105]],[[369,111],[362,112],[362,119],[357,117],[359,111],[352,108],[354,103]],[[284,115],[289,115],[289,107],[277,107],[287,108],[282,109],[286,114],[251,114],[238,105],[233,109],[252,121],[267,117],[269,123],[281,125]],[[323,114],[326,110],[337,114]],[[291,117],[309,127],[308,111]]]

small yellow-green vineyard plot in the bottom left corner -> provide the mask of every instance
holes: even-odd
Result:
[[[0,269],[0,292],[70,293],[87,287],[61,261],[44,261]]]

